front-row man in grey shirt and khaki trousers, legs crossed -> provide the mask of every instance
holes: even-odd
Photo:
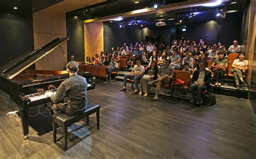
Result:
[[[161,89],[161,85],[170,83],[170,79],[173,76],[173,69],[170,67],[170,63],[170,60],[166,60],[164,62],[164,66],[160,67],[160,69],[158,70],[158,78],[154,81],[149,82],[150,85],[157,83],[156,95],[154,96],[153,100],[158,100],[158,92]]]

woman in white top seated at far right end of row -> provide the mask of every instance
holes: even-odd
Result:
[[[245,73],[248,69],[248,60],[245,60],[245,55],[240,53],[238,59],[235,59],[232,64],[231,74],[234,75],[235,86],[239,89],[239,80],[242,83],[242,86],[247,86],[246,82],[242,78],[242,73]]]

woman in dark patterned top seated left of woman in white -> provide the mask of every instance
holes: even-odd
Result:
[[[219,57],[213,61],[212,68],[216,79],[215,85],[221,86],[221,79],[223,78],[223,75],[225,74],[227,69],[227,59],[224,59],[223,53],[220,53]]]

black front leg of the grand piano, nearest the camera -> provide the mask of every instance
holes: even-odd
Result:
[[[23,132],[23,138],[28,139],[29,138],[29,119],[28,119],[28,109],[21,109],[19,110],[20,116],[21,116],[21,123],[22,123],[22,132]]]

